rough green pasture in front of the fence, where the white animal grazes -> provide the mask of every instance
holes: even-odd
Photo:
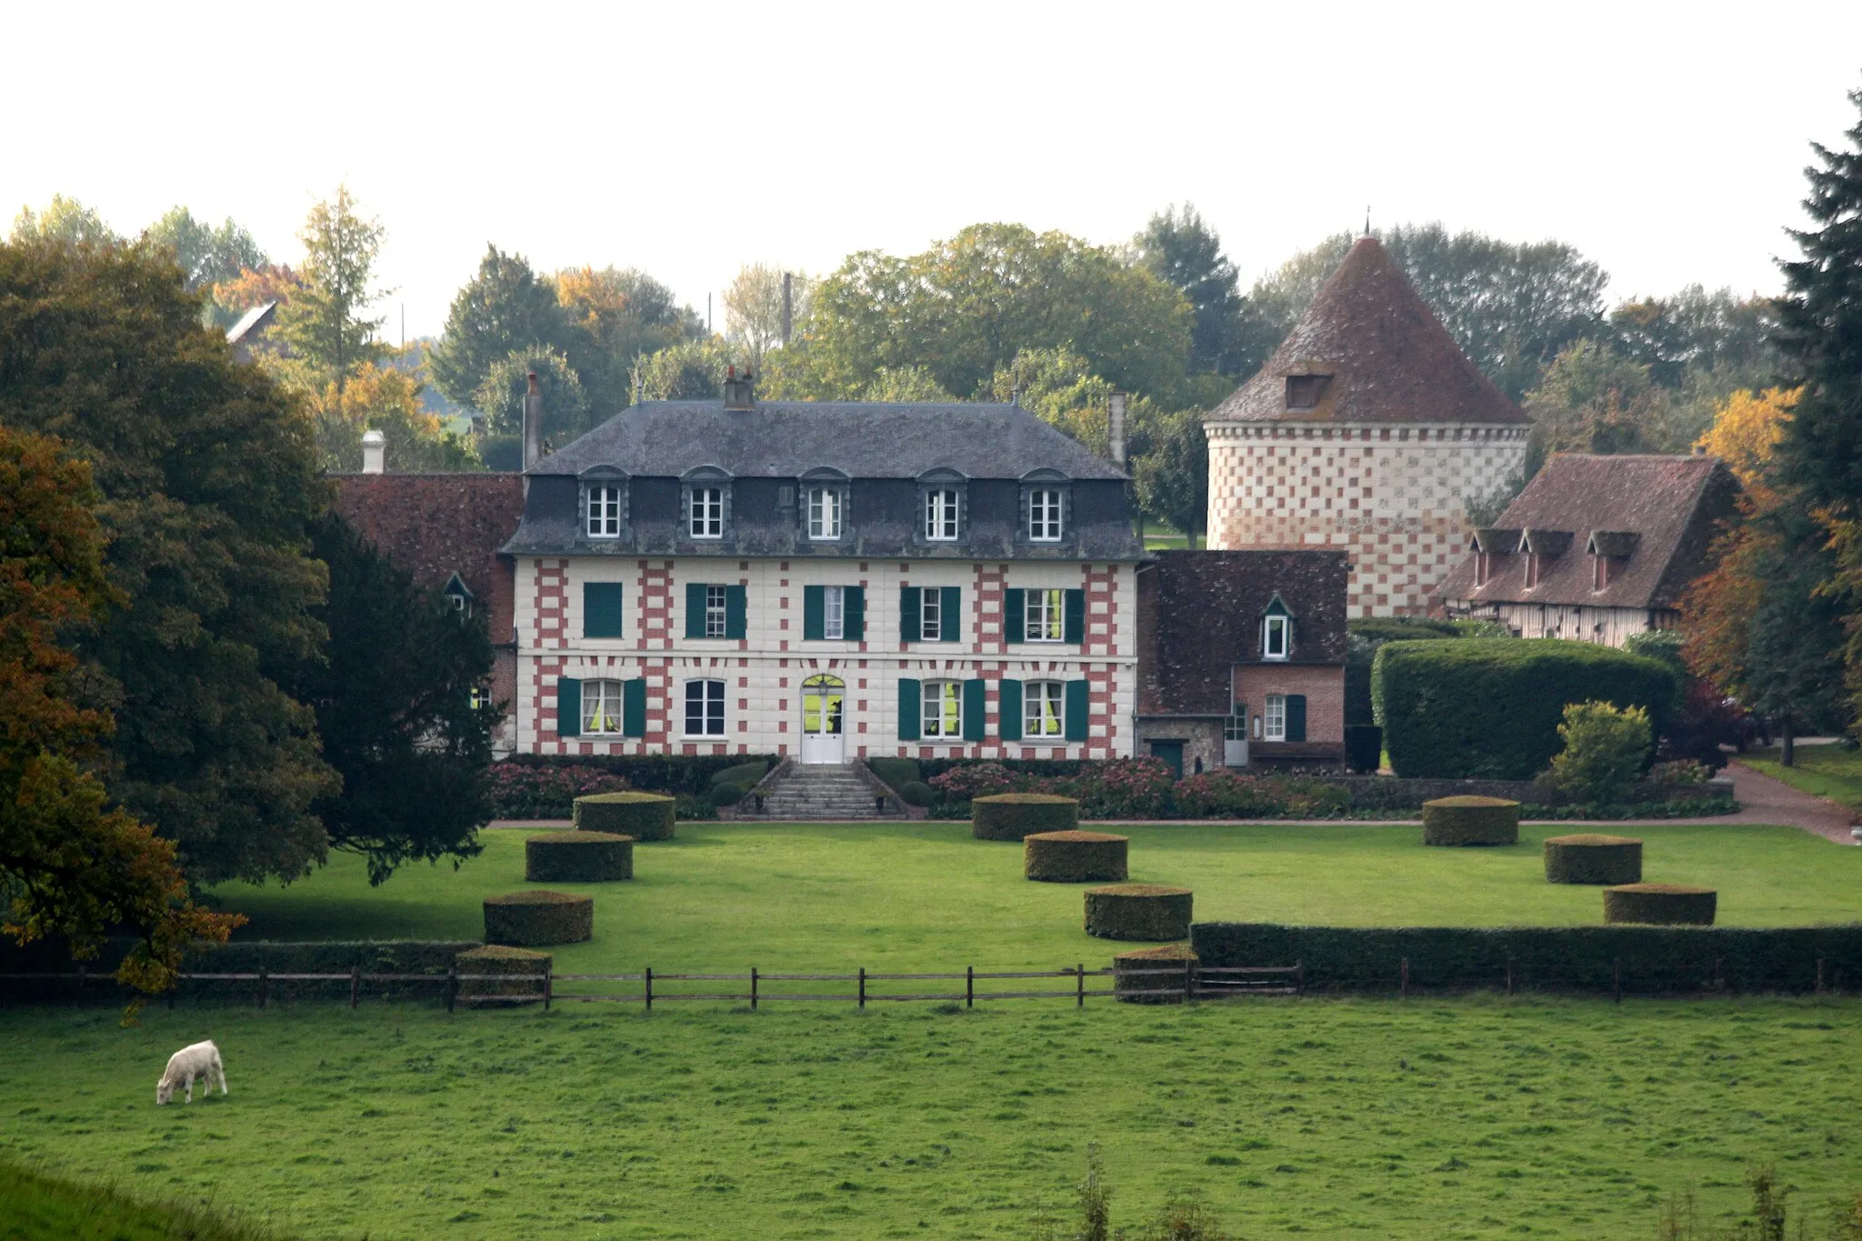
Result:
[[[1117,1222],[1194,1198],[1249,1241],[1653,1241],[1761,1161],[1799,1206],[1862,1185],[1855,1001],[115,1018],[0,1012],[0,1155],[305,1237],[1026,1239],[1089,1142]],[[205,1036],[231,1098],[156,1109]]]

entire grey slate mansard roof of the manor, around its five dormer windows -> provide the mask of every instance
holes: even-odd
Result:
[[[719,554],[1141,560],[1128,476],[1020,406],[663,400],[626,409],[529,471],[512,554]],[[691,540],[681,487],[730,486],[722,540]],[[810,543],[799,491],[847,487],[847,538]],[[620,538],[587,538],[581,486],[626,482]],[[965,536],[920,538],[920,482],[965,489]],[[1065,538],[1028,543],[1022,487],[1067,493]]]

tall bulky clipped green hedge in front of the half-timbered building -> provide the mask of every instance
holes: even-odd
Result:
[[[1659,737],[1674,674],[1592,642],[1411,640],[1378,649],[1370,696],[1398,776],[1531,780],[1560,748],[1566,703],[1644,707]]]

